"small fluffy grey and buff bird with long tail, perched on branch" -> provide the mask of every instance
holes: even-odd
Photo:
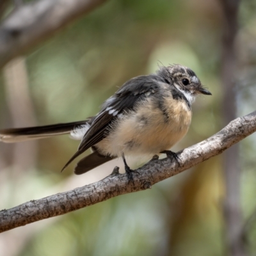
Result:
[[[134,77],[124,83],[92,118],[67,124],[3,129],[0,140],[19,142],[69,133],[81,143],[63,170],[92,148],[92,154],[76,164],[76,174],[122,156],[125,171],[132,177],[125,156],[153,156],[173,147],[188,132],[191,104],[198,94],[211,95],[211,92],[191,69],[182,65],[160,67],[156,74]]]

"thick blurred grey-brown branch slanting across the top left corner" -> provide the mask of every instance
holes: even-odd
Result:
[[[13,11],[0,26],[0,67],[106,0],[40,0]]]

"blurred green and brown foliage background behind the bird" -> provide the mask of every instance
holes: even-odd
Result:
[[[238,68],[230,90],[236,116],[256,106],[255,6],[255,0],[239,6],[234,39]],[[12,8],[10,4],[6,15]],[[158,65],[180,63],[196,72],[212,97],[198,97],[189,132],[173,150],[205,140],[227,125],[221,79],[223,16],[221,1],[214,0],[106,1],[5,65],[0,128],[84,120],[127,79],[155,72]],[[90,184],[109,175],[114,166],[123,166],[116,160],[76,176],[70,164],[60,173],[78,145],[68,136],[1,143],[0,209]],[[255,134],[238,148],[233,156],[241,170],[236,204],[244,250],[255,255]],[[138,167],[132,159],[129,163]],[[223,155],[213,157],[147,191],[4,232],[0,255],[231,255],[223,213],[224,177]]]

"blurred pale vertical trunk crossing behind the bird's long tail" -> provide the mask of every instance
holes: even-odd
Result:
[[[24,57],[15,58],[3,68],[6,102],[13,127],[35,126],[33,101],[29,95],[29,79]],[[26,141],[13,145],[12,165],[19,166],[10,171],[17,178],[21,170],[33,168],[36,163],[38,141]],[[15,171],[16,170],[16,171]]]

